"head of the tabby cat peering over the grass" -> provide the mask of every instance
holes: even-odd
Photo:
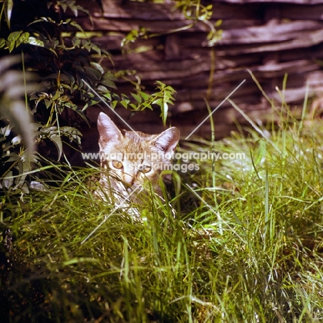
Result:
[[[103,112],[97,119],[101,167],[107,172],[101,183],[124,195],[146,181],[157,187],[159,175],[171,164],[179,141],[179,130],[168,128],[158,135],[119,130]],[[106,175],[108,173],[108,175]]]

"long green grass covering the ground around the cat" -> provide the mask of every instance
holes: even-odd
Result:
[[[202,161],[175,217],[152,197],[84,244],[113,208],[97,169],[3,195],[1,322],[322,322],[322,122],[271,130],[187,144],[246,159]]]

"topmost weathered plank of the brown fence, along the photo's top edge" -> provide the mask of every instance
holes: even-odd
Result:
[[[95,19],[121,18],[121,19],[142,19],[142,20],[165,20],[171,15],[173,20],[186,20],[184,15],[176,10],[172,3],[139,3],[133,1],[103,1],[104,14],[95,1],[79,0],[79,5],[86,8]],[[323,3],[321,0],[273,0],[273,1],[240,1],[240,0],[213,0],[212,19],[223,19],[224,23],[228,20],[257,20],[263,17],[268,8],[277,8],[280,19],[311,19],[323,20]],[[151,10],[154,6],[154,10]],[[86,14],[79,12],[79,18],[84,21],[88,19]]]

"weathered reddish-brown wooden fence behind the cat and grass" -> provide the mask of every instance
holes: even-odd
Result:
[[[306,84],[309,95],[323,92],[323,1],[319,0],[223,0],[213,4],[211,23],[222,19],[222,39],[208,46],[208,26],[192,21],[174,3],[103,0],[104,12],[96,1],[79,1],[92,14],[77,17],[85,30],[99,32],[96,41],[113,55],[103,63],[115,70],[137,70],[148,91],[156,80],[177,90],[170,107],[168,123],[188,135],[207,115],[205,99],[211,109],[244,81],[231,99],[255,121],[265,121],[271,106],[253,81],[250,70],[277,106],[284,100],[293,108],[302,105]],[[121,40],[133,29],[147,28],[148,39],[133,45],[133,52],[122,55]],[[171,32],[172,30],[179,30]],[[288,74],[282,92],[284,75]],[[127,82],[118,84],[120,92],[133,89]],[[108,109],[107,109],[108,110]],[[99,109],[89,110],[93,121]],[[123,117],[130,113],[119,109]],[[136,130],[156,133],[163,129],[160,111],[138,113],[128,121]],[[235,121],[246,121],[228,101],[214,114],[216,136],[228,135]],[[206,121],[195,134],[209,137]]]

